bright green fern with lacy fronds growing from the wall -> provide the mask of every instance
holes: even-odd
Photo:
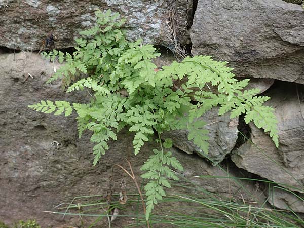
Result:
[[[253,121],[269,132],[278,146],[274,109],[263,106],[270,97],[255,96],[258,89],[242,92],[249,79],[236,80],[227,62],[200,55],[155,70],[157,66],[151,60],[160,54],[153,45],[144,45],[141,40],[128,42],[120,29],[124,19],[110,10],[97,11],[96,17],[96,25],[80,33],[82,37],[76,40],[72,55],[56,50],[43,53],[52,61],[65,61],[49,82],[63,77],[69,85],[78,78],[67,92],[88,88],[94,97],[86,104],[41,101],[29,107],[55,115],[77,112],[79,137],[84,130],[93,133],[94,165],[109,148],[108,141],[117,140],[122,128],[134,133],[135,155],[156,135],[160,147],[153,150],[154,154],[141,167],[145,172],[141,177],[149,180],[145,185],[147,220],[165,196],[164,187],[171,187],[169,180],[178,179],[173,170],[183,171],[181,163],[167,151],[172,140],[161,140],[164,131],[187,129],[188,139],[208,153],[208,130],[199,118],[219,106],[219,115],[230,112],[234,118],[243,113],[247,124]],[[179,88],[174,86],[175,81],[182,82]],[[211,92],[209,86],[217,87],[218,92]]]

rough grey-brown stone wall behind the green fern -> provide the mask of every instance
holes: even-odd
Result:
[[[229,164],[233,167],[232,177],[246,170],[243,177],[251,173],[277,182],[295,194],[304,193],[304,10],[301,6],[282,0],[7,0],[0,2],[0,21],[3,21],[0,27],[0,220],[12,223],[36,217],[45,227],[74,224],[79,222],[77,217],[62,219],[43,211],[70,202],[75,196],[105,194],[109,179],[118,186],[122,178],[128,178],[113,167],[126,166],[132,135],[122,132],[119,141],[110,143],[101,163],[93,167],[90,135],[86,133],[82,139],[78,138],[73,116],[54,117],[27,108],[46,99],[79,102],[89,98],[86,92],[66,94],[59,81],[45,84],[54,67],[60,66],[43,60],[37,52],[51,48],[44,44],[51,34],[56,48],[72,47],[78,31],[94,24],[96,8],[111,9],[127,17],[125,28],[130,40],[141,37],[146,43],[173,51],[176,44],[192,46],[194,55],[213,55],[217,60],[229,61],[238,77],[252,78],[251,88],[259,87],[263,95],[272,97],[267,104],[276,110],[279,148],[251,124],[247,126],[250,140],[238,140],[238,129],[244,127],[241,120],[219,118],[216,110],[202,117],[211,123],[208,158],[213,163],[186,140],[187,132],[169,132],[176,147],[173,152],[183,161],[186,178],[197,181],[207,191],[246,197],[237,184],[226,179],[194,179],[195,175],[225,176],[225,172],[213,165]],[[173,61],[174,55],[168,53],[156,60],[158,66]],[[136,158],[130,153],[137,176],[151,148],[156,146],[146,145]],[[252,185],[246,183],[246,186],[256,191]],[[299,198],[272,189],[264,189],[266,195],[271,195],[270,204],[304,212]],[[131,181],[128,192],[136,192]],[[258,194],[263,195],[261,189]],[[115,227],[124,227],[132,220],[120,218],[116,222]]]

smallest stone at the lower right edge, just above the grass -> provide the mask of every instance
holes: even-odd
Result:
[[[278,187],[268,190],[268,202],[282,210],[304,213],[303,194],[297,196]]]

